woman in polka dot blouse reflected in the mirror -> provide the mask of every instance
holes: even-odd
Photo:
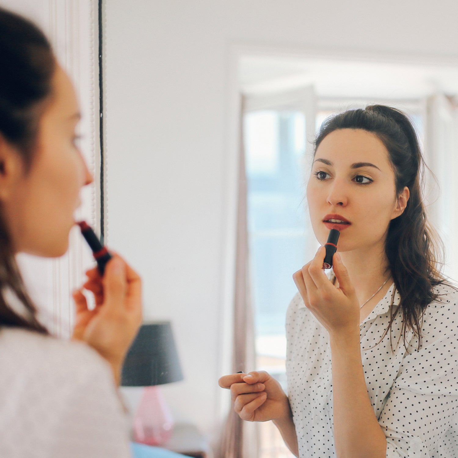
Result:
[[[265,372],[220,379],[244,420],[273,420],[300,457],[458,456],[458,294],[436,268],[414,129],[382,105],[325,121],[307,201],[325,249],[294,273],[287,397]]]

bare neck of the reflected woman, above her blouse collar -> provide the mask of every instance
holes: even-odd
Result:
[[[388,276],[391,276],[384,245],[376,245],[370,249],[344,251],[340,253],[340,256],[347,267],[360,304],[369,299]]]

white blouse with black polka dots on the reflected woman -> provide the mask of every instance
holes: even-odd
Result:
[[[457,458],[458,292],[437,288],[441,296],[423,316],[420,350],[412,331],[405,349],[402,314],[393,322],[393,350],[390,333],[374,347],[390,321],[393,289],[360,325],[367,391],[387,436],[387,458]],[[393,303],[399,303],[397,292]],[[288,396],[300,457],[335,457],[329,335],[300,294],[289,305],[286,333]]]

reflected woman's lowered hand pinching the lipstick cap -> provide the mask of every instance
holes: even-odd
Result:
[[[230,389],[234,410],[242,420],[286,420],[291,417],[283,388],[265,371],[222,376],[219,386]]]

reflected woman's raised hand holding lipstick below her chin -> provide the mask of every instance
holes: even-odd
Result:
[[[325,255],[326,249],[321,246],[313,260],[293,274],[294,283],[305,306],[329,334],[348,333],[355,329],[359,333],[360,307],[347,268],[335,253],[333,271],[339,286],[334,286],[323,269]]]

